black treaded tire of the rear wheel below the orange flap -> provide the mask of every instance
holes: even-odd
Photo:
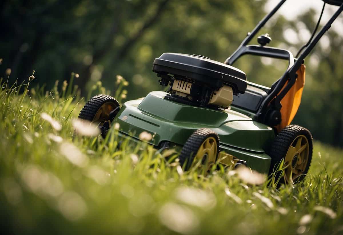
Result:
[[[291,146],[293,140],[299,135],[304,135],[307,138],[308,144],[309,144],[308,162],[307,162],[305,171],[302,175],[300,175],[296,179],[296,182],[300,182],[304,180],[305,174],[307,174],[311,165],[312,152],[313,152],[313,143],[312,143],[313,137],[311,135],[311,132],[308,129],[299,125],[286,126],[275,137],[268,151],[269,156],[272,158],[270,169],[269,169],[269,175],[273,174],[275,169],[278,168],[280,162],[286,156],[289,146]],[[276,172],[275,178],[278,179],[280,176],[281,176],[281,172]],[[285,183],[283,177],[281,177],[280,183]]]

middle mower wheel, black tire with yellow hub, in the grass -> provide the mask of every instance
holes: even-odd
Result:
[[[206,170],[215,163],[219,152],[219,137],[209,128],[196,130],[186,141],[179,156],[180,165],[185,171],[201,159]],[[195,160],[195,161],[194,161]]]

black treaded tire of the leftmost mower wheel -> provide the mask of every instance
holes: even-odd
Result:
[[[100,109],[100,107],[106,102],[113,102],[119,106],[118,100],[108,95],[96,95],[87,101],[85,106],[82,108],[79,114],[80,119],[93,121],[95,114]],[[110,120],[112,121],[112,120]]]

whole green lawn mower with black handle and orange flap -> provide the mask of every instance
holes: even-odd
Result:
[[[106,134],[111,123],[119,123],[119,136],[145,140],[156,149],[179,146],[179,163],[189,170],[195,162],[206,169],[215,163],[246,165],[271,175],[279,172],[283,183],[299,182],[312,159],[312,135],[291,124],[300,105],[305,84],[304,59],[343,10],[343,0],[323,0],[339,8],[294,57],[284,49],[268,47],[271,37],[257,38],[264,24],[285,3],[282,0],[247,34],[224,63],[202,55],[163,53],[153,62],[153,72],[167,91],[152,91],[146,97],[125,102],[107,95],[92,97],[79,118],[99,125]],[[287,70],[272,86],[247,81],[246,74],[232,65],[243,55],[288,61]],[[112,125],[113,126],[113,125]]]

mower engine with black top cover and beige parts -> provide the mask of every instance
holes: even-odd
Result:
[[[200,55],[163,53],[153,71],[170,86],[165,99],[210,108],[227,108],[247,88],[244,72]]]

